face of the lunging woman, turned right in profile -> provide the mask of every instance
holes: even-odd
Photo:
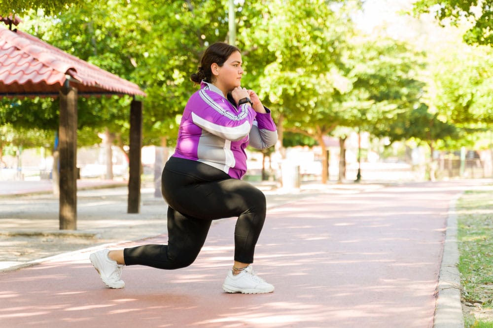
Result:
[[[235,51],[221,67],[212,67],[212,74],[215,76],[213,84],[227,94],[241,86],[243,73],[242,55]]]

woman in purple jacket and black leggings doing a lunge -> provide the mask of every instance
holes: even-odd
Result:
[[[274,286],[251,267],[255,244],[266,214],[264,194],[241,180],[246,173],[246,146],[265,149],[277,140],[270,110],[257,94],[241,87],[240,50],[212,44],[198,72],[200,84],[185,106],[176,150],[162,175],[168,203],[168,245],[142,245],[101,250],[90,260],[105,284],[123,288],[124,265],[177,269],[191,265],[199,254],[212,220],[237,216],[233,268],[223,290],[227,293],[271,293]]]

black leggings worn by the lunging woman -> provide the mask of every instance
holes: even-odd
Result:
[[[262,191],[210,165],[176,157],[166,163],[161,185],[169,205],[168,245],[125,248],[126,265],[187,267],[204,245],[212,220],[234,216],[238,216],[234,259],[253,263],[266,212]]]

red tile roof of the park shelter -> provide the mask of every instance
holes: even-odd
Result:
[[[136,84],[31,34],[0,26],[0,96],[58,96],[66,80],[79,95],[145,93]]]

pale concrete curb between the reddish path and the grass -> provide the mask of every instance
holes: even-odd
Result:
[[[456,203],[458,194],[450,201],[442,264],[438,279],[434,328],[464,328],[464,316],[460,301],[460,274],[457,268],[459,252],[457,245]]]

